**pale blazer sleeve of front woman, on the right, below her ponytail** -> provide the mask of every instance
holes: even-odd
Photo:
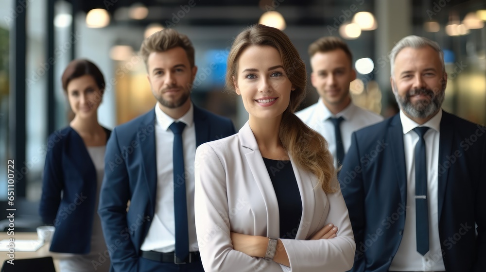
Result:
[[[338,226],[338,233],[332,239],[294,240],[280,239],[287,251],[292,272],[346,271],[353,266],[353,230],[347,213],[346,203],[339,189],[337,178],[333,180],[334,193],[327,193],[329,213],[326,223]]]

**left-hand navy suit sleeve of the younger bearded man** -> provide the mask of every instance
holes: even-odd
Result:
[[[127,230],[126,208],[130,198],[129,179],[120,155],[116,128],[106,144],[104,178],[100,190],[98,214],[110,252],[111,265],[117,272],[137,271],[139,257]]]

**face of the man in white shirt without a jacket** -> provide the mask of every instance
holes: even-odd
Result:
[[[328,108],[333,105],[346,106],[350,102],[349,83],[356,79],[350,62],[342,49],[316,52],[311,58],[312,86]]]

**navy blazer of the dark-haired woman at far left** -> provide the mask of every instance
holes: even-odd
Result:
[[[111,131],[104,130],[108,140]],[[74,129],[68,126],[49,136],[39,214],[44,223],[56,227],[51,251],[89,253],[96,214],[96,179],[93,161]]]

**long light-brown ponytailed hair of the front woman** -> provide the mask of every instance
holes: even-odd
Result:
[[[252,25],[240,33],[228,55],[226,88],[235,91],[234,78],[238,71],[238,58],[249,46],[271,46],[280,53],[285,72],[295,86],[290,103],[282,116],[278,131],[285,150],[299,169],[313,173],[318,186],[325,192],[334,192],[331,181],[336,175],[328,144],[323,136],[309,128],[294,112],[305,98],[307,73],[305,64],[289,37],[282,31],[264,25]]]

